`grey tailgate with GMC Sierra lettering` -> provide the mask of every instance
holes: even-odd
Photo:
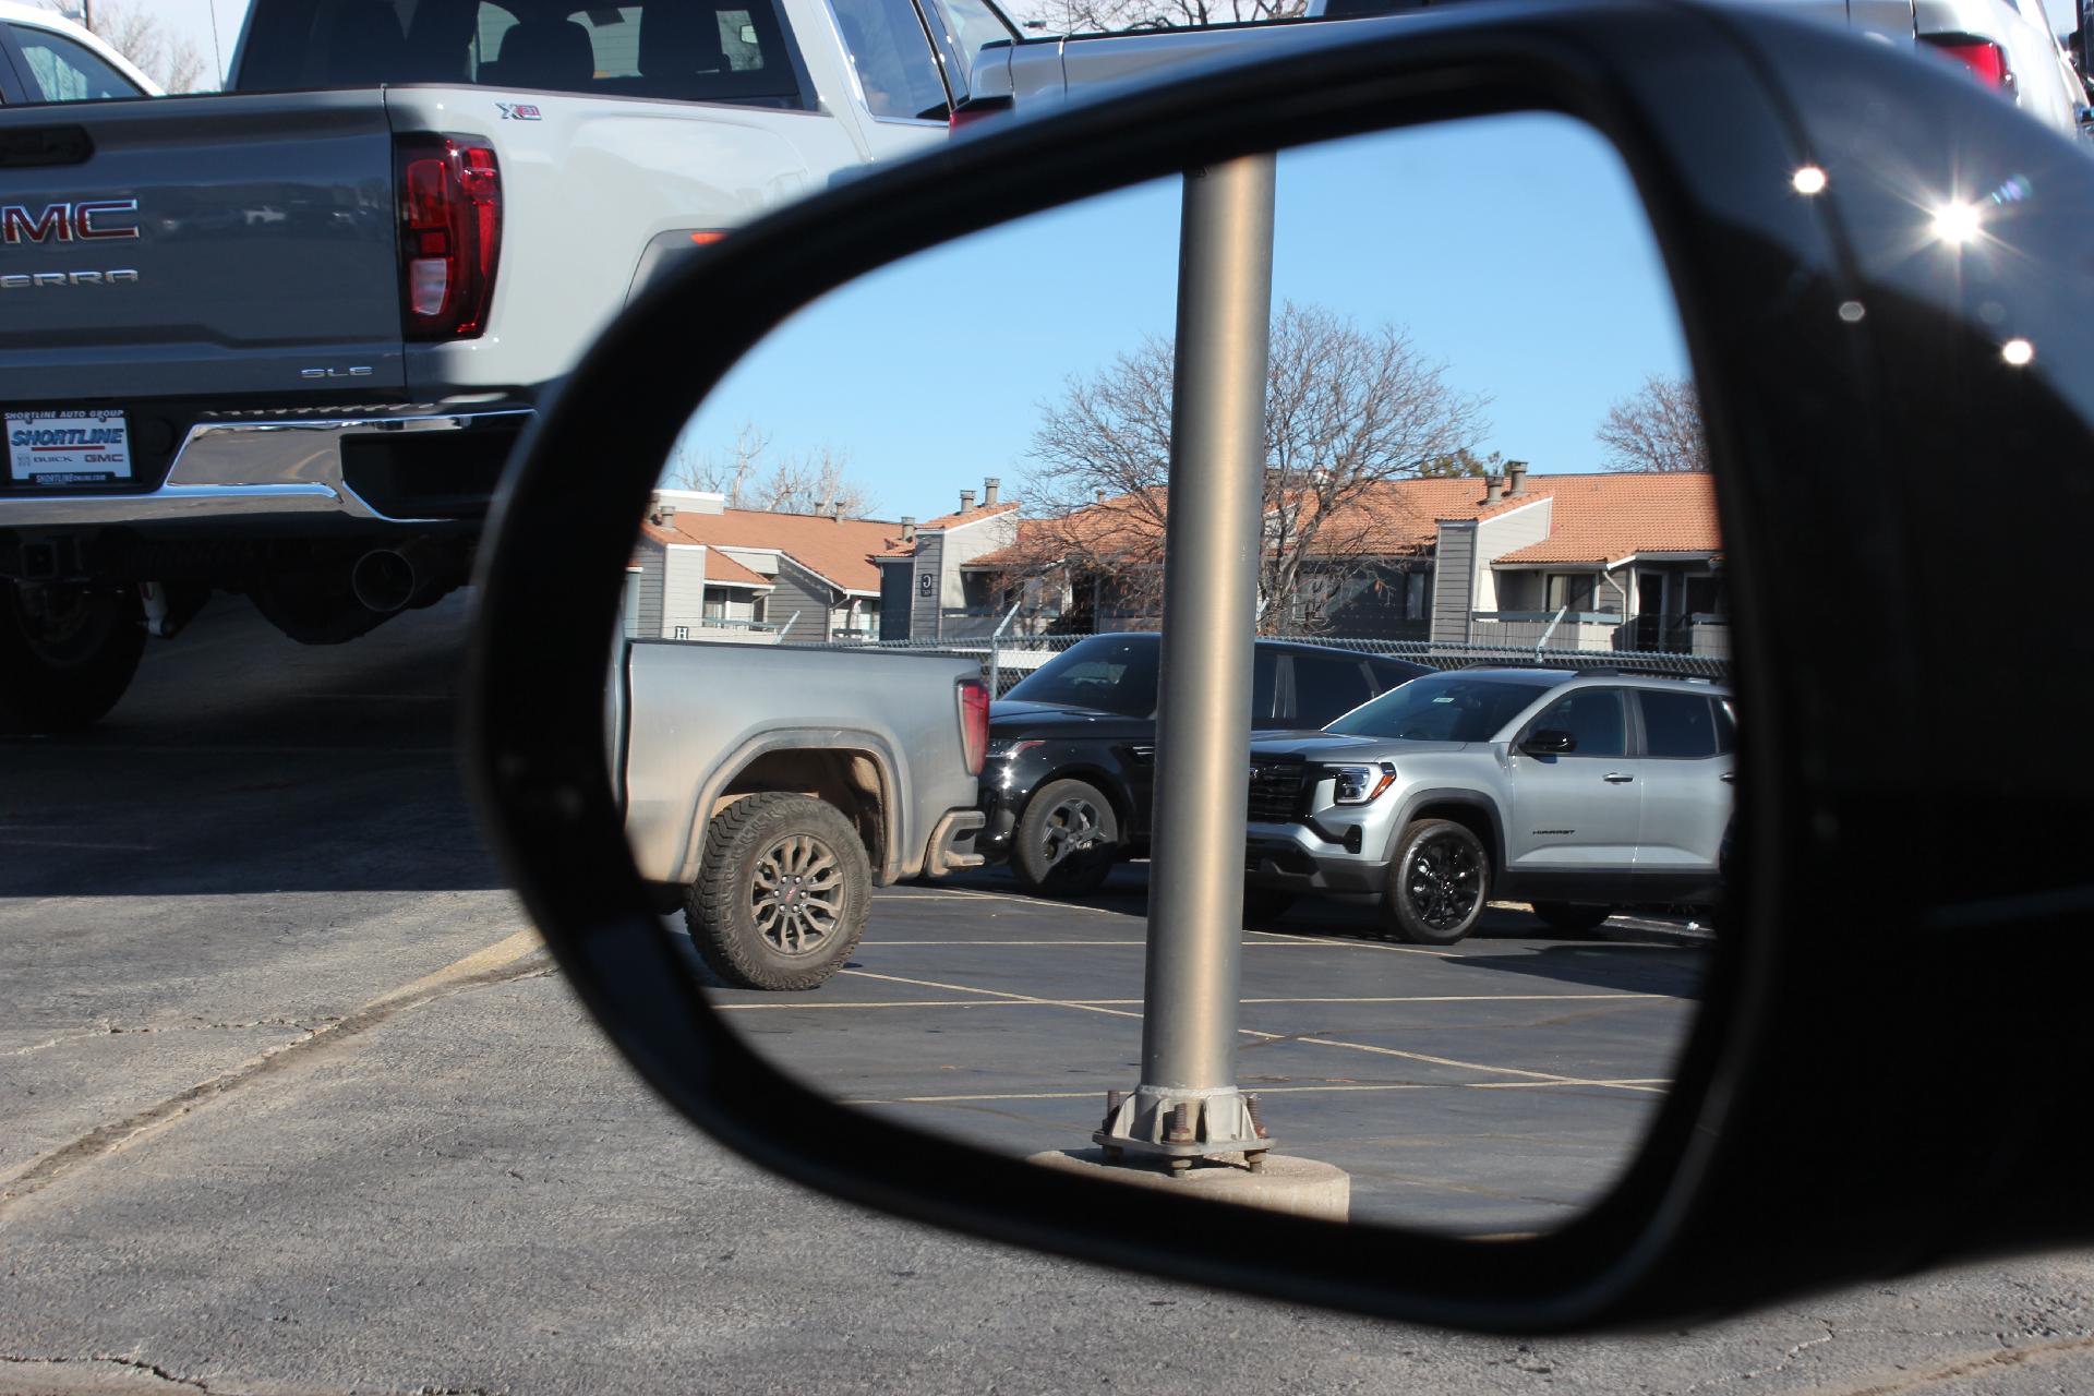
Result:
[[[392,188],[377,90],[0,109],[0,406],[398,389]]]

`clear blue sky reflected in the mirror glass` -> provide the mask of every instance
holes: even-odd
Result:
[[[725,454],[748,421],[781,452],[844,450],[884,513],[1030,469],[1041,404],[1168,335],[1179,184],[951,243],[781,327],[699,408]],[[1273,301],[1403,324],[1491,398],[1480,450],[1600,467],[1594,427],[1686,354],[1648,222],[1612,149],[1556,115],[1384,132],[1284,153]]]

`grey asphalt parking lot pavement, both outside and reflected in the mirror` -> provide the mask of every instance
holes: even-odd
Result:
[[[0,743],[0,1392],[2094,1390],[2086,1254],[1518,1342],[779,1183],[634,1082],[503,887],[450,756],[463,615],[299,649],[218,599],[94,733]],[[850,1007],[722,998],[865,1109],[1030,1149],[1124,1084],[1137,910],[1137,873],[1072,908],[900,887],[823,990]],[[1246,933],[1246,1082],[1367,1212],[1545,1224],[1692,1017],[1663,929]]]

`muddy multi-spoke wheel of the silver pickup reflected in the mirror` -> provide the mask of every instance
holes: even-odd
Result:
[[[683,919],[735,988],[819,988],[865,936],[873,869],[859,831],[808,795],[748,795],[712,816]]]

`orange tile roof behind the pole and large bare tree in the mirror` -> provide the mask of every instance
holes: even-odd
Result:
[[[1072,553],[1154,561],[1162,498],[1122,494],[1060,519],[1026,519],[1018,542],[967,567],[1026,567]],[[1393,479],[1349,502],[1323,525],[1323,544],[1344,553],[1401,557],[1432,548],[1441,521],[1495,519],[1554,500],[1550,536],[1501,563],[1617,563],[1635,553],[1717,553],[1715,494],[1705,473],[1529,475],[1518,498],[1485,500],[1474,475]]]

